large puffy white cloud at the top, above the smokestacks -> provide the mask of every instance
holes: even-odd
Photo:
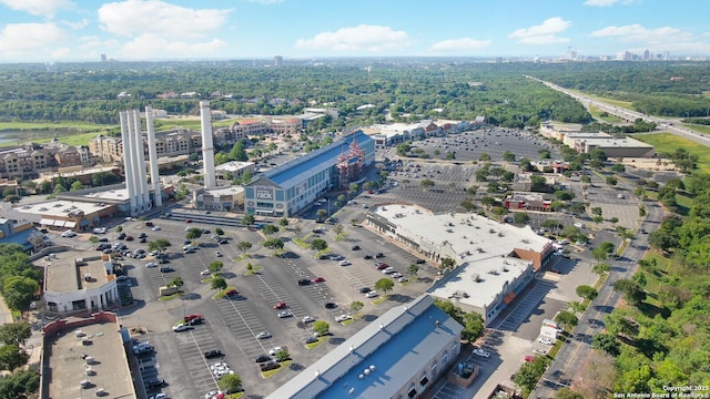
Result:
[[[197,40],[222,29],[231,10],[191,9],[160,0],[126,0],[99,8],[101,28],[121,37],[144,34],[166,40]]]

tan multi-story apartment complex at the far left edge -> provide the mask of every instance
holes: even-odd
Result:
[[[42,172],[67,166],[91,166],[94,157],[88,147],[30,143],[0,151],[0,178],[37,178]]]

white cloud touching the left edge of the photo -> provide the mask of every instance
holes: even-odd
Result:
[[[41,59],[63,44],[67,31],[52,22],[11,23],[0,31],[0,53],[4,60]],[[63,45],[62,45],[63,48]]]

